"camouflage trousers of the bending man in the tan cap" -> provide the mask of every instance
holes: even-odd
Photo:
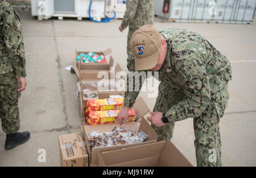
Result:
[[[161,82],[159,85],[159,94],[156,99],[154,111],[165,112],[173,105],[183,100],[183,91],[179,88],[173,88],[166,83]],[[221,137],[218,122],[223,116],[228,102],[227,88],[213,94],[212,100],[220,103],[210,102],[208,107],[199,116],[193,118],[193,127],[195,132],[195,149],[197,166],[222,166],[221,162]],[[221,106],[222,110],[216,110],[216,105]],[[158,141],[171,139],[174,132],[174,122],[169,122],[162,127],[152,125],[158,134]]]

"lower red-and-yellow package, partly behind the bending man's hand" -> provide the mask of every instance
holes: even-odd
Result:
[[[90,111],[87,116],[85,116],[86,124],[97,125],[97,124],[110,124],[117,123],[117,115],[120,110],[106,110],[106,111]],[[134,109],[129,109],[129,117],[127,122],[135,120]]]

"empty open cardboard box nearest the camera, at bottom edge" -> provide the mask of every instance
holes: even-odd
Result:
[[[192,164],[172,144],[166,141],[148,143],[111,151],[98,151],[101,167],[191,167]]]

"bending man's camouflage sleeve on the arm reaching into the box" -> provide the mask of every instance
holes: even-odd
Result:
[[[143,77],[138,71],[135,71],[135,61],[132,53],[130,53],[127,58],[127,69],[129,73],[127,74],[127,89],[125,91],[123,105],[131,108],[139,95],[139,91],[141,91],[141,87],[146,79],[146,76]]]

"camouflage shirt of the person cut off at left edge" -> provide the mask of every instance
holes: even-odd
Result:
[[[26,77],[22,28],[18,12],[0,1],[0,74],[11,71]]]

